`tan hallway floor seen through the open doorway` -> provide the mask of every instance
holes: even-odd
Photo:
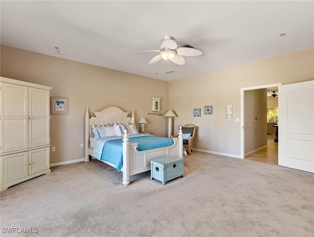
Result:
[[[274,142],[274,134],[267,134],[266,148],[247,155],[245,159],[278,165],[278,143]]]

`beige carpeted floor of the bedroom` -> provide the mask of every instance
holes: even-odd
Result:
[[[166,185],[92,160],[1,192],[1,237],[313,237],[314,175],[194,151]],[[21,232],[7,234],[8,228]],[[24,229],[23,229],[24,228]]]

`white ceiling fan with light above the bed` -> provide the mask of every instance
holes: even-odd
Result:
[[[160,49],[157,50],[145,50],[138,51],[135,53],[143,53],[143,52],[156,52],[159,55],[155,56],[153,59],[149,61],[148,64],[153,64],[159,61],[160,59],[171,60],[172,62],[183,65],[185,63],[185,59],[183,56],[199,56],[202,55],[200,50],[193,48],[190,45],[184,45],[183,47],[177,48],[177,43],[171,39],[170,35],[165,36],[165,40],[162,42]]]

